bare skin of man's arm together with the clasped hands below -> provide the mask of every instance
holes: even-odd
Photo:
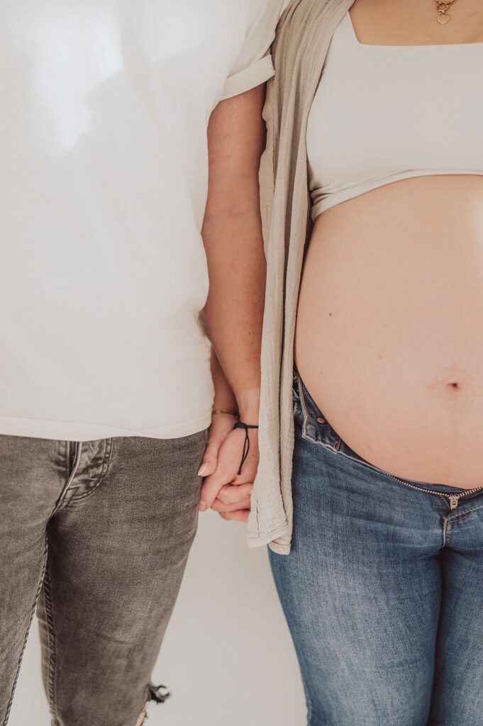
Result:
[[[240,420],[250,425],[259,420],[266,274],[258,176],[265,141],[264,93],[264,85],[246,91],[222,101],[211,114],[202,230],[210,280],[204,317],[214,346],[214,408],[238,409]],[[232,431],[234,423],[230,416],[213,417],[200,468],[206,478],[199,509],[212,507],[225,519],[247,521],[258,433],[249,432],[250,452],[238,476],[245,432]]]

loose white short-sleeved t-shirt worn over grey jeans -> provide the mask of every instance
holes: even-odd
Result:
[[[206,130],[283,0],[2,0],[0,433],[210,423]]]

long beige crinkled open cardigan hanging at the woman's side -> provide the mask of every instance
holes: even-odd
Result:
[[[248,544],[288,554],[292,536],[293,338],[304,248],[312,231],[307,119],[330,40],[354,0],[292,0],[272,49],[261,160],[267,299],[261,350],[260,465]]]

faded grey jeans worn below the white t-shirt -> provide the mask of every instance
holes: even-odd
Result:
[[[195,536],[206,432],[0,436],[0,725],[37,605],[53,726],[134,726]]]

